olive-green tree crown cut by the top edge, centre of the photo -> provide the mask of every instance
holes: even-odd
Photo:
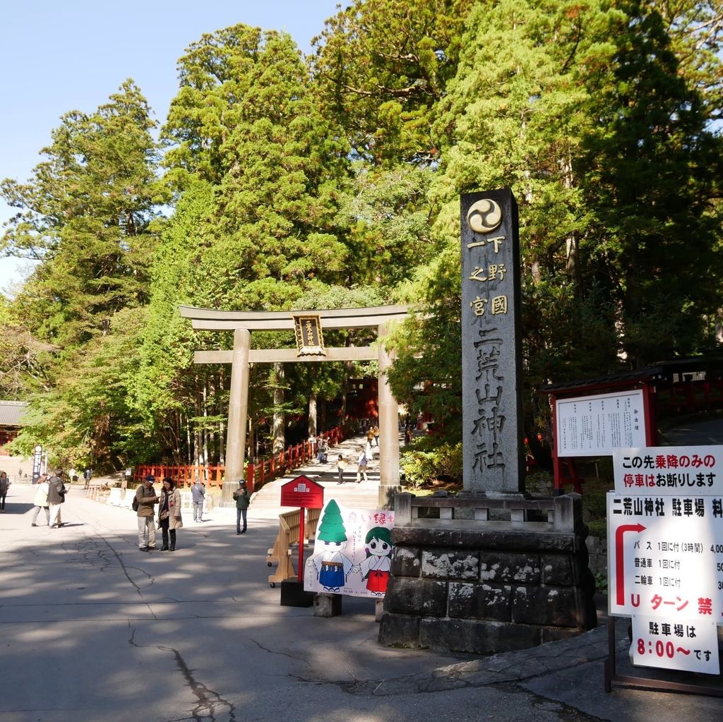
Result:
[[[438,160],[435,103],[454,77],[472,0],[355,0],[326,21],[312,57],[316,92],[375,166]]]

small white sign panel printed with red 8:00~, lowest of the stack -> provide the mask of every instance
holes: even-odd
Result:
[[[716,625],[633,614],[633,664],[720,674]]]

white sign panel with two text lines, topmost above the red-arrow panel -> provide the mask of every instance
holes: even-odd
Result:
[[[723,446],[615,449],[612,467],[618,494],[723,494]]]

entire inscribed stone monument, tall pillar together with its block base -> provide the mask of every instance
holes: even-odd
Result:
[[[581,499],[524,489],[517,206],[461,197],[464,491],[395,498],[382,644],[489,654],[596,625]]]

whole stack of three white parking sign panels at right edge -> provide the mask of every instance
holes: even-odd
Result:
[[[609,614],[633,617],[636,663],[719,674],[723,447],[617,449],[613,464]]]

